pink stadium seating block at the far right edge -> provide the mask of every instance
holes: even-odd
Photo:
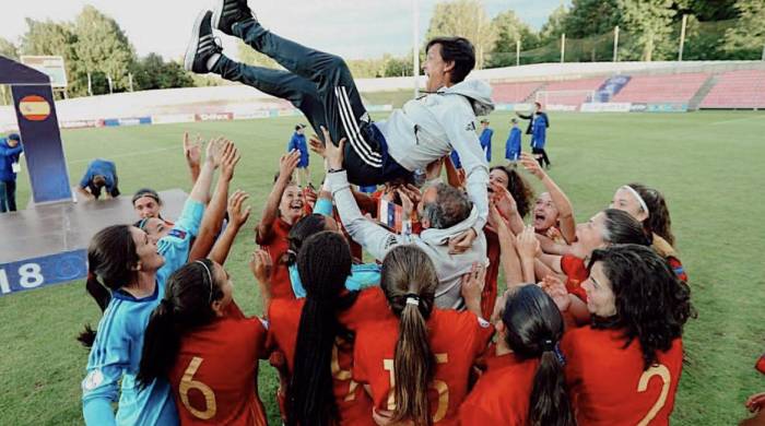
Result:
[[[702,108],[765,108],[765,70],[729,71],[702,100]]]

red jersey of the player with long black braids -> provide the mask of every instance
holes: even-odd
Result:
[[[286,356],[287,368],[294,371],[295,344],[301,313],[305,299],[273,300],[269,307],[269,346],[275,345]],[[379,287],[358,293],[356,301],[348,310],[340,312],[338,320],[349,330],[355,330],[365,321],[385,318],[390,310]],[[374,425],[372,400],[364,388],[351,380],[353,366],[353,344],[338,339],[332,350],[332,376],[334,378],[334,401],[338,404],[341,425]]]

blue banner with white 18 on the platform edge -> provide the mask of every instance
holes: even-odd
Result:
[[[0,296],[87,276],[85,249],[0,263]]]

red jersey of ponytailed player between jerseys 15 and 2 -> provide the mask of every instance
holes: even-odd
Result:
[[[537,367],[537,358],[492,355],[486,359],[486,371],[459,409],[460,423],[526,426]]]

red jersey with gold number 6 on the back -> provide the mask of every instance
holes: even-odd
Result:
[[[226,317],[181,338],[169,374],[181,425],[267,425],[258,398],[266,328],[232,301]]]

